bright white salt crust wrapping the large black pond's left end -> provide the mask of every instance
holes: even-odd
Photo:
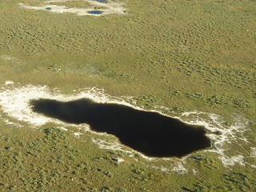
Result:
[[[6,89],[6,88],[9,89]],[[42,126],[47,122],[55,122],[61,125],[72,125],[71,123],[64,123],[53,118],[47,118],[41,114],[36,114],[31,110],[29,105],[30,100],[38,98],[55,99],[62,102],[77,100],[80,98],[90,98],[95,102],[109,102],[118,103],[126,106],[131,106],[129,103],[124,102],[120,98],[110,98],[109,95],[104,94],[104,90],[96,87],[85,89],[79,94],[63,95],[57,89],[53,93],[46,86],[20,86],[14,87],[14,82],[6,81],[5,86],[0,87],[0,106],[3,112],[18,121],[28,122],[33,126]],[[138,109],[138,108],[137,108]],[[88,130],[89,126],[84,124]]]

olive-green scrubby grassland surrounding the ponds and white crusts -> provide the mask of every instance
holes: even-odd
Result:
[[[64,94],[97,86],[113,96],[133,96],[149,110],[198,110],[229,124],[242,114],[250,120],[245,147],[256,146],[256,2],[114,2],[123,2],[126,14],[54,14],[0,0],[0,83],[58,87]],[[167,162],[101,150],[90,133],[76,138],[55,127],[0,122],[0,190],[256,190],[255,168],[226,168],[214,153],[187,160],[198,174],[164,172],[152,166]],[[237,144],[230,146],[230,154],[237,150]],[[115,163],[119,156],[126,161]]]

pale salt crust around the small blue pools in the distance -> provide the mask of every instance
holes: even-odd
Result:
[[[79,16],[84,15],[93,15],[93,16],[101,16],[105,14],[126,14],[125,8],[123,7],[123,4],[121,2],[97,2],[93,0],[84,0],[84,2],[89,2],[92,6],[89,8],[68,8],[66,6],[56,6],[49,4],[50,2],[74,2],[72,0],[54,0],[54,1],[46,1],[44,4],[40,6],[29,6],[24,3],[19,3],[19,6],[25,9],[31,9],[31,10],[46,10],[50,12],[54,12],[56,14],[63,14],[63,13],[72,13],[77,14]],[[94,11],[95,7],[105,7],[105,9],[97,9],[97,11],[101,11],[101,14],[90,14],[90,11]]]

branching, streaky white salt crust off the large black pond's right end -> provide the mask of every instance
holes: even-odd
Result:
[[[201,118],[200,114],[208,115],[209,119]],[[238,145],[248,153],[248,151],[240,144],[239,140],[243,142],[248,142],[245,137],[237,137],[238,134],[242,135],[247,129],[249,121],[244,118],[242,115],[234,115],[234,124],[229,127],[222,126],[222,123],[220,121],[220,116],[217,114],[206,114],[206,113],[198,113],[198,112],[186,112],[182,114],[182,117],[189,117],[192,115],[194,117],[194,121],[190,121],[190,123],[193,123],[194,125],[199,126],[205,126],[206,129],[210,131],[219,131],[222,134],[207,134],[208,138],[212,141],[212,147],[211,149],[205,150],[209,152],[214,152],[219,154],[218,157],[221,161],[223,166],[234,166],[235,164],[239,164],[240,166],[245,166],[246,162],[244,161],[244,156],[241,154],[235,155],[235,156],[227,156],[226,150],[229,150],[228,148],[225,148],[226,143],[231,142],[237,142]],[[182,118],[181,117],[181,118]],[[196,118],[195,118],[196,117]]]

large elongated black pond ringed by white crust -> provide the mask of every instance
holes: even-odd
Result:
[[[71,102],[31,100],[34,112],[63,122],[87,123],[90,129],[114,134],[120,142],[151,157],[182,157],[210,147],[202,126],[191,126],[162,114],[129,106],[97,103],[84,98]]]

